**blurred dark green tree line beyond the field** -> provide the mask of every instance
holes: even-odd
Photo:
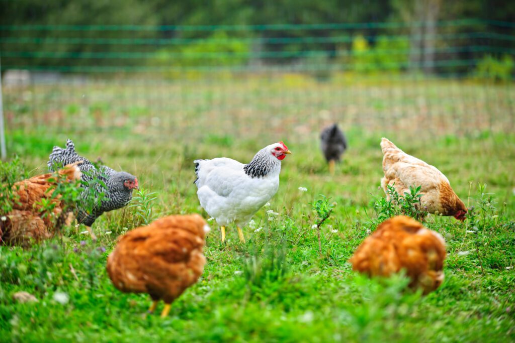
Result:
[[[359,71],[409,68],[438,72],[439,66],[435,63],[438,59],[467,60],[487,55],[481,49],[469,51],[467,46],[502,45],[492,50],[497,56],[488,54],[495,61],[505,58],[502,51],[515,48],[514,40],[495,41],[489,37],[465,35],[445,40],[445,34],[458,37],[460,32],[492,32],[513,37],[513,27],[487,22],[509,22],[515,18],[515,2],[501,0],[0,0],[0,6],[3,70],[28,65],[59,67],[61,69],[56,70],[66,71],[68,66],[210,67],[304,61],[311,64],[352,62],[353,68]],[[483,22],[468,26],[437,25],[439,21],[458,19]],[[364,26],[352,30],[175,27],[320,23],[419,25]],[[12,25],[54,27],[15,30]],[[63,29],[60,25],[75,27]],[[81,25],[144,27],[91,30]],[[161,27],[163,25],[168,27]],[[459,68],[456,66],[457,70]]]

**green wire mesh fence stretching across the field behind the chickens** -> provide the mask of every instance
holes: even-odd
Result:
[[[514,24],[0,26],[10,131],[512,132]]]

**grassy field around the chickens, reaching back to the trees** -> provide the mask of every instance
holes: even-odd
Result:
[[[30,249],[0,246],[0,341],[515,340],[511,85],[351,81],[290,75],[184,87],[110,81],[5,89],[9,152],[30,174],[44,171],[52,147],[70,137],[85,157],[137,175],[156,194],[101,216],[97,242],[79,227]],[[334,177],[317,138],[331,120],[342,123],[350,145]],[[465,223],[426,218],[445,237],[448,258],[444,283],[425,297],[403,291],[402,277],[369,280],[347,262],[380,222],[373,204],[384,195],[382,136],[437,166],[475,208]],[[139,210],[151,210],[153,219],[207,218],[193,159],[248,161],[280,139],[294,154],[282,163],[270,206],[256,213],[254,228],[244,228],[248,242],[230,228],[221,244],[211,223],[204,274],[168,318],[145,314],[148,296],[115,290],[106,258],[119,234],[142,223]],[[493,194],[482,195],[479,183]],[[335,205],[322,229],[322,257],[311,228],[320,194]],[[39,302],[15,303],[16,291]]]

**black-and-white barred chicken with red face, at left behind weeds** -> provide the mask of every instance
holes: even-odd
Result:
[[[132,190],[138,188],[138,178],[126,172],[118,172],[107,166],[95,166],[88,159],[75,152],[71,139],[66,140],[66,148],[54,147],[48,160],[48,168],[52,171],[60,166],[83,161],[79,166],[82,173],[81,181],[83,202],[77,204],[77,221],[91,226],[104,212],[122,208],[131,200]],[[104,187],[105,185],[105,187]],[[94,203],[87,199],[94,192]],[[101,199],[98,194],[104,193]]]

